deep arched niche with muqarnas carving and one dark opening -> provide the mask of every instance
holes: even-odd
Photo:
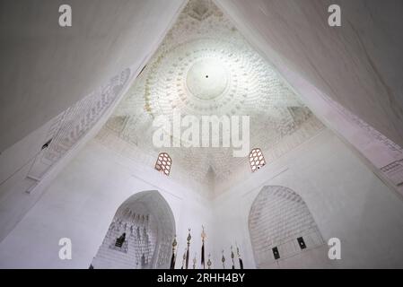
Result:
[[[118,207],[90,268],[169,268],[175,220],[158,191],[130,196]]]

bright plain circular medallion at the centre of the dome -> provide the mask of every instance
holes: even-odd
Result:
[[[221,61],[214,58],[197,61],[188,70],[188,91],[200,100],[213,100],[225,91],[227,71]]]

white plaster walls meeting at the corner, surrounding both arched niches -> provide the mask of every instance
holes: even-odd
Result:
[[[0,243],[0,267],[88,268],[118,206],[137,192],[159,190],[175,217],[177,268],[189,227],[190,257],[197,252],[199,264],[202,224],[207,230],[206,255],[212,254],[214,267],[222,266],[222,249],[226,266],[231,266],[230,247],[237,243],[245,268],[253,268],[248,216],[266,185],[292,188],[310,208],[323,239],[337,237],[342,243],[340,261],[324,261],[325,246],[272,267],[403,266],[401,197],[325,129],[213,202],[93,139]],[[72,239],[72,260],[58,258],[58,240],[63,237]]]

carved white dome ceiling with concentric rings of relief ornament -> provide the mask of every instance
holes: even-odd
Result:
[[[320,122],[273,68],[250,47],[211,1],[190,1],[150,63],[120,102],[107,126],[155,157],[153,118],[159,115],[250,116],[250,148],[268,151],[305,122]],[[304,127],[305,128],[305,127]],[[227,178],[248,166],[229,148],[166,148],[176,167],[194,178]],[[274,154],[274,153],[273,153]],[[266,156],[266,154],[265,154]],[[274,158],[275,156],[271,156]]]

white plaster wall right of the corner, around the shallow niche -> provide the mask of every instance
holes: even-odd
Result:
[[[221,266],[221,250],[228,260],[231,244],[237,243],[245,268],[255,267],[248,216],[267,185],[293,189],[308,205],[323,239],[341,239],[342,259],[337,262],[323,260],[329,250],[325,246],[273,267],[403,267],[401,196],[329,129],[215,198],[215,266]]]

